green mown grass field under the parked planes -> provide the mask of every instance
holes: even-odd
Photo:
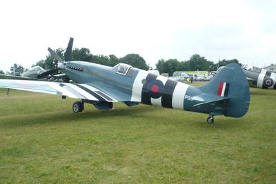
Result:
[[[242,119],[0,90],[0,183],[275,183],[276,90]]]

